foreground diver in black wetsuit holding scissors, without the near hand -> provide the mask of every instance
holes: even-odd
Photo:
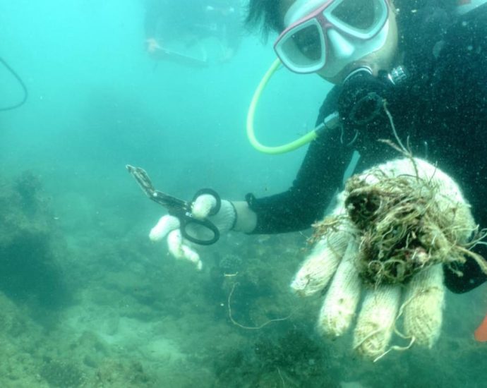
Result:
[[[301,169],[289,190],[242,201],[198,195],[194,217],[220,233],[279,234],[308,229],[342,187],[352,154],[356,172],[398,156],[380,142],[399,138],[411,153],[451,176],[480,227],[487,226],[487,4],[486,0],[251,0],[250,25],[279,33],[274,48],[295,73],[316,73],[335,86],[320,108]],[[287,107],[286,107],[287,109]],[[317,127],[318,128],[318,127]],[[198,264],[177,217],[165,215],[150,232],[167,237],[169,252]],[[487,257],[487,247],[474,252]],[[471,258],[445,266],[445,285],[464,293],[487,276]]]

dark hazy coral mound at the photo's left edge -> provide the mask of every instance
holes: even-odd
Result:
[[[13,182],[2,179],[0,185],[0,291],[18,301],[55,308],[68,298],[58,261],[64,243],[40,179],[24,172]]]

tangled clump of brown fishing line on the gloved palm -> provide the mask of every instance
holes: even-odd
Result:
[[[468,250],[477,230],[469,205],[447,198],[434,175],[419,176],[417,166],[415,172],[388,176],[373,169],[347,182],[345,208],[361,234],[356,265],[368,284],[404,284],[431,265],[455,268],[466,255],[485,267]]]

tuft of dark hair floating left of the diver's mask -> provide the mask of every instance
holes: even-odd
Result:
[[[277,32],[284,30],[279,6],[279,0],[249,0],[246,25],[249,28],[260,27],[264,38],[267,38],[272,30]]]

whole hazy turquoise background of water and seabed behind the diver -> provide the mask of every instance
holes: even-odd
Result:
[[[289,291],[310,231],[229,234],[201,250],[202,272],[148,241],[164,212],[126,164],[185,199],[202,187],[239,200],[291,184],[305,150],[267,156],[245,135],[270,43],[245,33],[229,63],[189,68],[145,52],[142,1],[0,8],[0,56],[30,93],[0,112],[0,387],[486,386],[487,348],[473,339],[485,286],[448,294],[431,350],[371,364],[349,337],[318,336],[319,297]],[[22,97],[4,68],[0,85],[0,106]],[[279,71],[259,106],[259,137],[305,133],[327,90]],[[287,319],[245,329],[229,302],[246,327]]]

